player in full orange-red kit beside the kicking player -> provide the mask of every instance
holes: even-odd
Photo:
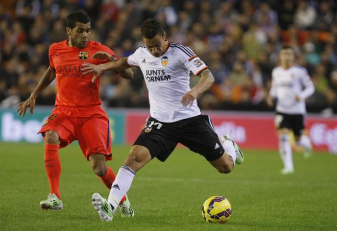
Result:
[[[92,82],[92,75],[82,75],[81,66],[83,62],[98,65],[119,57],[107,46],[89,41],[90,18],[87,14],[69,14],[66,30],[69,38],[50,46],[49,68],[31,96],[21,102],[17,109],[18,116],[25,116],[28,107],[32,114],[36,97],[56,78],[55,108],[39,131],[44,137],[44,163],[51,188],[47,199],[40,202],[42,209],[63,208],[59,189],[61,163],[58,150],[74,140],[78,140],[93,171],[109,190],[115,180],[115,173],[106,165],[106,161],[112,159],[111,136],[108,116],[101,107],[100,79]],[[91,59],[91,55],[97,51],[105,51],[101,57],[103,60]],[[118,74],[126,79],[133,77],[133,72],[128,69]],[[119,208],[124,217],[134,215],[126,195]]]

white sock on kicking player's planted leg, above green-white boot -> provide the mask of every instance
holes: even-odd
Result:
[[[116,210],[123,196],[129,191],[136,172],[126,165],[118,170],[115,181],[112,183],[108,203]]]

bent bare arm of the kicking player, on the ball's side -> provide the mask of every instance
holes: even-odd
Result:
[[[183,106],[191,106],[193,101],[198,98],[198,96],[205,92],[214,82],[214,77],[212,73],[206,69],[203,70],[198,76],[200,80],[197,85],[194,86],[189,92],[187,92],[181,99]]]

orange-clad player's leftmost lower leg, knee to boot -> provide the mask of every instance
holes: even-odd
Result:
[[[44,143],[44,163],[51,193],[47,196],[46,200],[40,201],[40,206],[45,210],[61,210],[63,208],[62,201],[60,200],[61,162],[58,154],[60,137],[54,130],[46,131]]]

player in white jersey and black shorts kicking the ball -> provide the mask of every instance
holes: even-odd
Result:
[[[84,64],[82,69],[83,74],[94,73],[94,80],[103,71],[136,66],[141,69],[149,90],[151,117],[119,168],[108,201],[98,193],[92,195],[92,204],[105,221],[112,220],[119,201],[131,187],[135,172],[154,157],[165,161],[178,142],[203,155],[221,173],[229,173],[235,162],[244,161],[236,143],[228,135],[222,136],[221,142],[210,118],[201,115],[196,98],[214,82],[204,62],[188,47],[168,42],[161,24],[154,19],[142,23],[141,34],[145,46],[129,57],[107,65]],[[98,54],[102,57],[104,52]],[[192,89],[189,88],[190,71],[200,77]],[[109,213],[102,211],[102,206],[109,207]]]

